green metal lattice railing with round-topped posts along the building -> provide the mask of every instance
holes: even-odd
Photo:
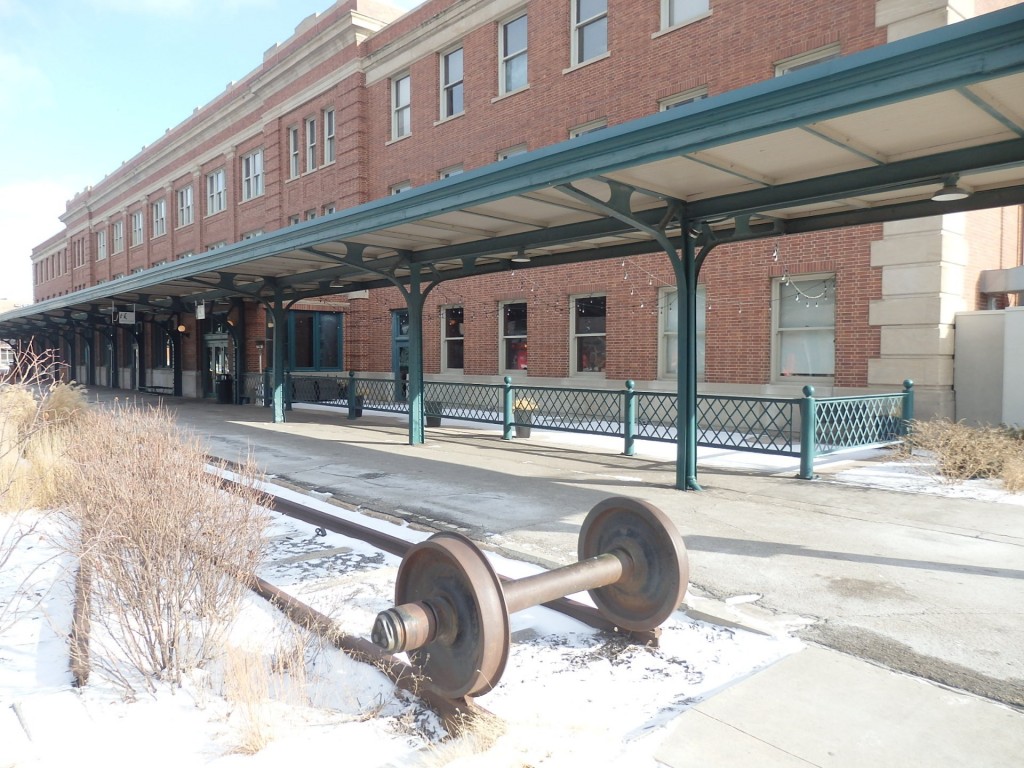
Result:
[[[267,391],[265,381],[261,386]],[[290,402],[347,408],[349,419],[364,411],[409,413],[401,379],[288,374],[285,390]],[[698,395],[697,445],[799,457],[799,476],[810,479],[818,456],[898,442],[913,419],[910,380],[896,393],[816,398],[814,387],[803,391],[803,397]],[[423,393],[427,426],[447,417],[501,424],[504,439],[516,427],[622,437],[627,456],[637,439],[675,442],[677,410],[675,393],[637,391],[632,381],[621,390],[522,386],[510,377],[504,384],[428,381]]]

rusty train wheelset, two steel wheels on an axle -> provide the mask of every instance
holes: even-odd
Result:
[[[617,497],[596,505],[580,531],[580,561],[503,585],[486,556],[458,534],[435,534],[398,568],[395,607],[371,638],[411,657],[453,697],[486,693],[509,652],[509,614],[588,591],[616,627],[660,625],[686,594],[682,538],[656,507]]]

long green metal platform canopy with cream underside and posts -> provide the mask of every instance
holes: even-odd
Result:
[[[972,194],[933,200],[947,183]],[[410,439],[420,442],[418,315],[433,285],[660,250],[686,298],[677,474],[695,487],[693,295],[715,245],[1021,203],[1017,5],[23,307],[0,315],[0,337],[101,305],[241,297],[283,313],[302,298],[397,285],[412,310]]]

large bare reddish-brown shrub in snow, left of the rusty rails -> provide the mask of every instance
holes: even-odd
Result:
[[[88,412],[68,457],[70,544],[91,580],[90,656],[128,693],[180,685],[220,653],[262,559],[256,470],[228,486],[165,411],[127,406]]]

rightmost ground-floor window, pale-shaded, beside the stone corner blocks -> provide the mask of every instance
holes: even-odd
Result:
[[[831,275],[774,284],[775,373],[781,379],[836,373],[836,279]]]

